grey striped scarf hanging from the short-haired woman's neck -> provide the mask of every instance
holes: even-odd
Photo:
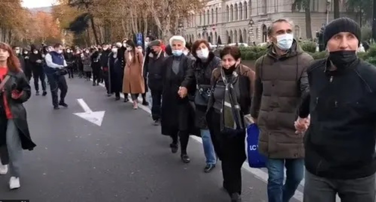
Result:
[[[232,72],[231,79],[228,81],[223,69],[221,68],[221,77],[225,86],[221,109],[221,131],[225,128],[244,128],[244,124],[241,121],[240,105],[237,98],[237,91],[239,92],[239,74],[236,70],[237,69]]]

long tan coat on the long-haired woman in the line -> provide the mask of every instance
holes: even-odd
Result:
[[[133,51],[125,51],[124,53],[126,65],[123,77],[123,93],[135,94],[145,92],[142,67],[144,56],[139,50],[136,50],[135,55],[136,57],[133,55]]]

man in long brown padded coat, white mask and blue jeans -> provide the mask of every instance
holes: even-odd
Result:
[[[293,27],[285,19],[274,21],[268,52],[255,63],[251,116],[260,128],[259,152],[268,158],[269,202],[288,202],[304,172],[303,136],[295,134],[294,121],[308,91],[306,69],[313,59],[293,39]]]

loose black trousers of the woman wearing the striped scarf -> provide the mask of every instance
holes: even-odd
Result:
[[[246,133],[223,133],[220,129],[221,114],[209,110],[211,139],[215,152],[222,161],[223,188],[231,195],[241,194],[241,166],[246,160]]]

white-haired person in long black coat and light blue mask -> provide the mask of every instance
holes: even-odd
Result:
[[[182,87],[182,82],[186,72],[190,69],[191,60],[183,54],[185,39],[182,36],[173,36],[170,39],[172,56],[165,59],[162,67],[162,112],[161,127],[162,134],[171,136],[171,152],[178,150],[177,137],[180,138],[180,158],[183,163],[189,163],[187,155],[187,145],[193,123],[193,109],[188,98],[182,98],[178,93]]]

